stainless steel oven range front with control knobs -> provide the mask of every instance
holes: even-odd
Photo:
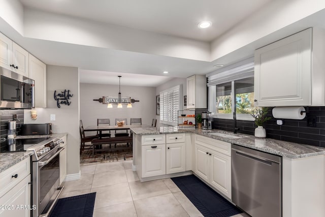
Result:
[[[52,211],[63,186],[60,185],[59,153],[61,139],[49,138],[26,151],[32,151],[32,216],[48,216]]]

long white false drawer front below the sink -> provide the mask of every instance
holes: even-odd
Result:
[[[205,136],[196,135],[195,143],[211,148],[212,150],[231,156],[231,143]]]

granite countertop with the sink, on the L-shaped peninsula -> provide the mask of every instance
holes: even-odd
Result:
[[[233,134],[232,132],[222,130],[179,130],[177,127],[160,127],[160,128],[131,128],[131,131],[137,135],[154,135],[154,134],[172,134],[172,133],[194,133],[218,139],[225,142],[241,145],[255,150],[276,154],[278,156],[291,159],[307,158],[325,154],[325,148],[294,142],[286,142],[276,139],[261,139],[247,134]],[[211,135],[210,133],[228,134],[230,138]],[[237,136],[240,138],[231,138]]]

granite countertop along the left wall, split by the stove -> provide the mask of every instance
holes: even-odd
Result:
[[[53,133],[49,135],[17,136],[16,139],[62,137],[66,135],[68,135],[68,133]],[[25,158],[29,158],[31,154],[32,152],[26,152],[26,151],[0,153],[0,172],[5,171],[6,169],[14,166],[15,164],[21,162]]]

